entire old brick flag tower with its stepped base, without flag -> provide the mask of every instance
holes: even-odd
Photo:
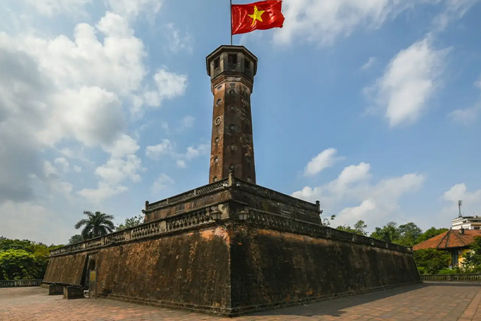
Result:
[[[96,269],[99,296],[238,316],[419,282],[411,248],[324,226],[319,202],[255,184],[257,58],[221,46],[207,65],[210,184],[146,202],[134,228],[53,250],[44,283],[86,287]]]

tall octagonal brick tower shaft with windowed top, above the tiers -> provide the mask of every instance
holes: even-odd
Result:
[[[243,46],[223,45],[207,57],[214,95],[209,183],[229,176],[256,183],[251,93],[257,58]]]

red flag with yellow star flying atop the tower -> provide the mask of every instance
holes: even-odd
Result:
[[[282,28],[282,1],[267,0],[232,5],[232,34],[245,34],[256,29]]]

